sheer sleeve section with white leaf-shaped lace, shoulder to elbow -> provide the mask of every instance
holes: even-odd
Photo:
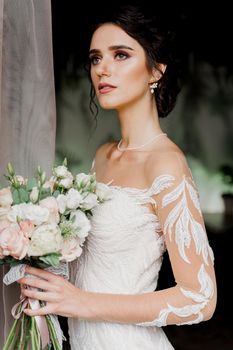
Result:
[[[152,197],[176,285],[154,293],[148,321],[137,325],[199,323],[215,310],[216,283],[198,191],[182,154],[170,154],[156,174]]]

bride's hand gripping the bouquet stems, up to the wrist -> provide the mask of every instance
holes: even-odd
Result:
[[[51,272],[30,266],[27,266],[25,271],[38,278],[23,277],[18,280],[21,284],[22,296],[46,302],[46,306],[40,309],[25,309],[26,315],[56,314],[65,317],[85,318],[85,292],[66,281],[63,277]],[[26,286],[40,288],[43,291],[30,290]]]

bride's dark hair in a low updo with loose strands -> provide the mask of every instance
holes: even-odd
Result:
[[[160,118],[166,117],[174,108],[180,91],[180,67],[179,60],[175,56],[175,32],[165,29],[161,19],[148,14],[146,9],[142,11],[133,5],[120,6],[111,13],[103,14],[98,23],[93,25],[92,34],[104,23],[116,24],[144,48],[149,69],[158,69],[159,63],[167,65],[154,91],[158,115]],[[90,78],[90,66],[88,71]],[[92,111],[93,104],[96,107],[94,96],[94,88],[91,86]]]

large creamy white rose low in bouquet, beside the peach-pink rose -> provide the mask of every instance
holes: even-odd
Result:
[[[32,232],[28,255],[41,256],[59,252],[62,241],[61,231],[57,225],[41,225]]]

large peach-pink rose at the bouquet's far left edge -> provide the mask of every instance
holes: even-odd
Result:
[[[18,225],[11,225],[0,231],[0,257],[11,255],[15,259],[23,259],[27,253],[29,239]]]

